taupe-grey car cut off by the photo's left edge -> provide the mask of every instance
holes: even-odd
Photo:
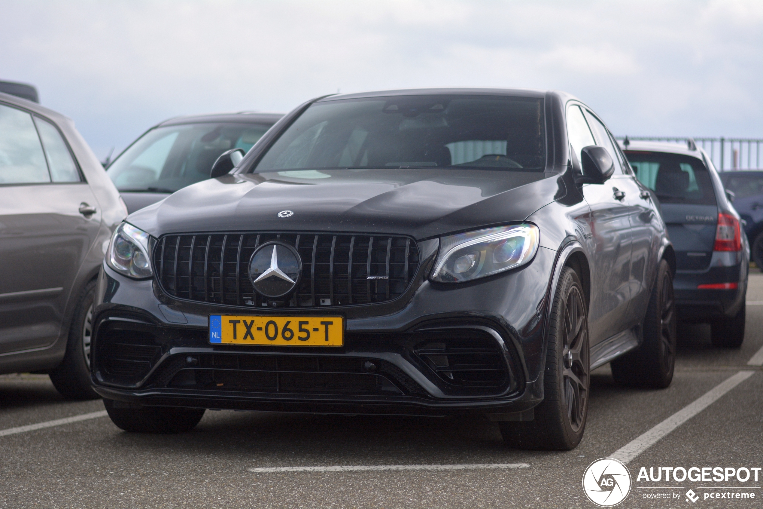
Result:
[[[95,277],[126,215],[69,118],[0,93],[0,373],[50,372],[64,396],[98,398]]]

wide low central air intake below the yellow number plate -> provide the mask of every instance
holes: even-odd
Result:
[[[157,385],[221,391],[313,392],[324,394],[400,395],[423,393],[403,372],[378,359],[324,356],[201,354],[195,364],[170,360]],[[372,362],[369,372],[365,362]],[[391,366],[394,368],[394,366]],[[166,382],[169,380],[169,384]]]

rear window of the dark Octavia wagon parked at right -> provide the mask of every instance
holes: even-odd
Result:
[[[716,205],[710,173],[691,156],[626,150],[636,177],[652,189],[662,203]]]

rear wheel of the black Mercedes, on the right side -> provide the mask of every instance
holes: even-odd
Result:
[[[664,259],[657,269],[643,330],[638,350],[610,362],[613,379],[619,385],[666,388],[675,367],[676,313],[673,274]]]

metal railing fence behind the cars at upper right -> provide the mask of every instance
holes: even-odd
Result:
[[[618,140],[626,137],[618,136]],[[629,136],[633,141],[668,141],[673,143],[687,143],[694,140],[697,147],[702,147],[710,154],[713,164],[719,171],[732,171],[735,169],[759,169],[761,168],[761,144],[763,138],[707,138],[707,137],[681,137],[681,136]]]

